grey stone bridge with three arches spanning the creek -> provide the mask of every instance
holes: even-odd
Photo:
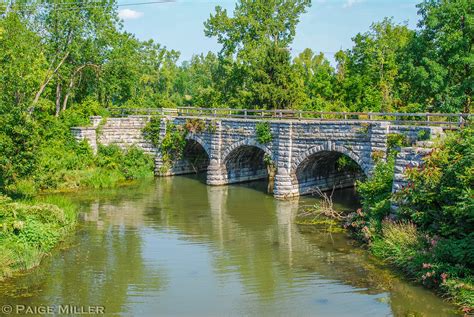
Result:
[[[192,116],[161,118],[160,135],[164,137],[170,122],[183,125]],[[397,125],[388,121],[318,121],[267,120],[272,141],[257,140],[256,125],[260,119],[200,117],[212,129],[188,133],[182,159],[170,169],[163,168],[158,149],[145,141],[142,129],[150,116],[119,118],[92,117],[91,127],[73,128],[78,140],[86,139],[93,149],[97,145],[117,144],[122,148],[136,145],[156,155],[157,176],[190,174],[207,171],[207,184],[225,185],[269,177],[267,164],[275,169],[274,196],[289,198],[307,194],[316,187],[322,190],[350,187],[355,180],[369,176],[376,157],[386,157],[387,137],[404,134],[413,143],[419,132],[429,138],[443,133],[440,127]],[[408,165],[419,165],[429,150],[421,147],[402,148],[397,156],[393,189],[404,184],[403,172]],[[358,169],[338,168],[337,160],[347,156]],[[272,177],[273,178],[273,177]]]

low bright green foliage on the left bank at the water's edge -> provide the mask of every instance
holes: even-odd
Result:
[[[38,266],[75,224],[76,209],[65,199],[15,202],[0,196],[0,280]]]

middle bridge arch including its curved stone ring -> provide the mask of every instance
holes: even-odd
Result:
[[[255,139],[249,138],[232,144],[222,155],[226,183],[268,179],[265,156],[274,160],[272,151]]]

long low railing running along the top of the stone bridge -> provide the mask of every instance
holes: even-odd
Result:
[[[109,108],[111,116],[150,115],[176,117],[240,118],[311,121],[388,121],[396,124],[440,125],[457,128],[471,122],[467,113],[392,113],[392,112],[326,112],[303,110],[263,110],[233,108]]]

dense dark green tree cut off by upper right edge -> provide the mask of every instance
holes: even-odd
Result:
[[[474,2],[424,0],[406,74],[413,100],[431,111],[470,112],[474,91]]]

